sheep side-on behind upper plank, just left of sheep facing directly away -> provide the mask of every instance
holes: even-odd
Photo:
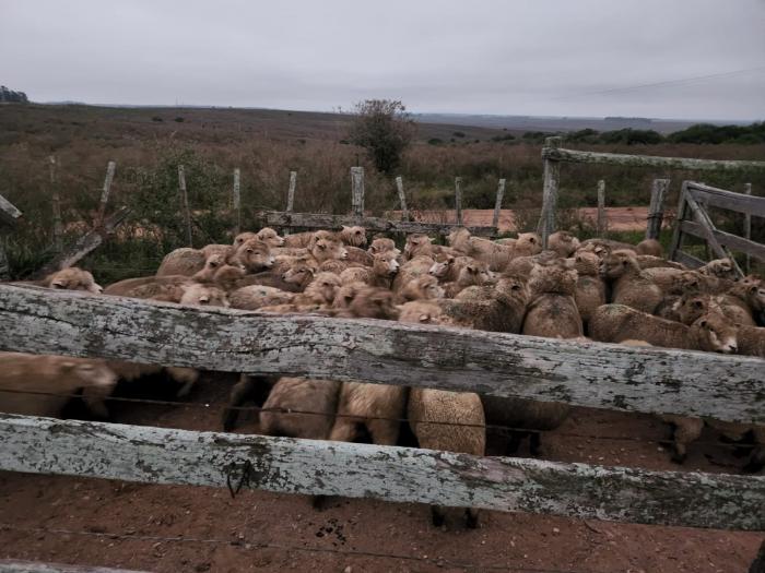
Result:
[[[518,334],[528,300],[526,282],[504,276],[495,285],[468,287],[456,299],[442,299],[437,303],[457,326]]]

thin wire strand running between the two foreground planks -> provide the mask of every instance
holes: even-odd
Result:
[[[40,392],[40,391],[30,391],[30,390],[8,390],[0,389],[0,394],[27,394],[27,395],[38,395],[38,396],[56,396],[62,398],[76,399],[82,398],[82,394],[67,394],[67,393],[56,393],[56,392]],[[444,426],[450,428],[474,428],[474,429],[485,429],[498,432],[501,434],[511,434],[513,432],[518,433],[537,433],[543,434],[549,433],[550,430],[538,430],[530,428],[520,428],[506,425],[497,423],[467,423],[459,421],[440,421],[440,420],[426,420],[426,419],[411,419],[411,418],[396,418],[396,417],[385,417],[385,416],[358,416],[354,414],[341,414],[341,413],[326,413],[296,408],[281,408],[281,407],[262,407],[262,406],[228,406],[222,404],[211,404],[211,403],[196,403],[196,402],[177,402],[169,399],[155,399],[155,398],[131,398],[126,396],[106,396],[98,397],[104,402],[122,402],[122,403],[134,403],[134,404],[149,404],[153,406],[174,406],[184,408],[199,408],[199,409],[211,409],[215,407],[223,407],[225,410],[236,410],[236,411],[252,411],[252,413],[266,413],[266,414],[276,414],[276,415],[299,415],[299,416],[320,416],[325,418],[346,418],[352,420],[373,420],[373,421],[390,421],[398,423],[423,423],[428,426]],[[613,410],[608,410],[613,411]],[[622,413],[620,413],[622,414]],[[623,413],[628,414],[628,413]],[[602,434],[588,434],[578,432],[567,432],[567,431],[555,431],[556,437],[563,438],[577,438],[584,440],[602,440],[612,442],[635,442],[635,443],[650,443],[650,444],[671,444],[672,440],[669,438],[638,438],[635,435],[602,435]],[[726,450],[740,450],[740,449],[753,449],[756,444],[739,444],[739,443],[725,443],[719,441],[709,440],[694,440],[692,442],[694,445],[709,445]]]

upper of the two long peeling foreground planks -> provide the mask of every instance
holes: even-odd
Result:
[[[168,341],[173,343],[168,344]],[[765,360],[0,286],[0,350],[765,422]]]

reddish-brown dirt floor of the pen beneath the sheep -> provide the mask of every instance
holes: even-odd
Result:
[[[177,406],[114,402],[113,418],[220,430],[231,383],[207,375]],[[251,414],[239,431],[257,431]],[[659,443],[667,435],[650,416],[575,409],[543,435],[542,447],[550,459],[678,469]],[[705,433],[683,469],[738,471],[742,459],[716,438]],[[489,454],[499,445],[490,442]],[[156,572],[732,573],[748,570],[762,540],[762,533],[489,511],[474,530],[459,514],[435,528],[421,504],[334,499],[317,511],[306,496],[245,491],[232,499],[225,489],[0,473],[0,559]]]

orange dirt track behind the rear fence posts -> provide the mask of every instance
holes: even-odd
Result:
[[[597,207],[582,207],[578,210],[579,217],[589,218],[592,225],[598,218]],[[393,218],[400,216],[401,212],[393,212]],[[669,212],[668,212],[669,215]],[[457,220],[455,211],[417,211],[416,220],[423,223],[452,223]],[[605,207],[605,218],[608,220],[609,230],[625,231],[625,230],[645,230],[646,220],[648,219],[648,207]],[[462,222],[471,227],[490,227],[494,219],[494,210],[490,208],[466,208],[462,210]],[[499,232],[516,231],[513,210],[503,208],[499,212]]]

